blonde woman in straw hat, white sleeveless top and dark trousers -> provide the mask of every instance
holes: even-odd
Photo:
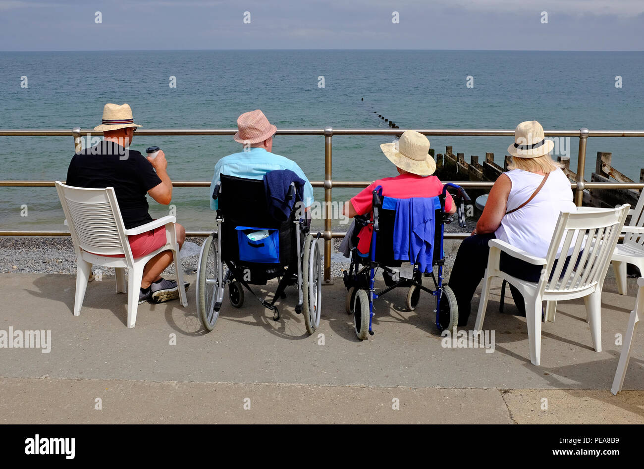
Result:
[[[450,287],[459,304],[459,326],[468,322],[471,300],[488,265],[488,241],[503,240],[534,256],[545,257],[559,213],[575,211],[573,191],[561,165],[550,157],[554,143],[545,140],[544,128],[536,120],[521,122],[509,171],[494,183],[483,214],[471,236],[459,247],[450,276]],[[536,282],[542,266],[501,254],[500,267],[512,276]],[[564,267],[565,269],[565,267]],[[516,306],[526,314],[524,300],[510,288]]]

